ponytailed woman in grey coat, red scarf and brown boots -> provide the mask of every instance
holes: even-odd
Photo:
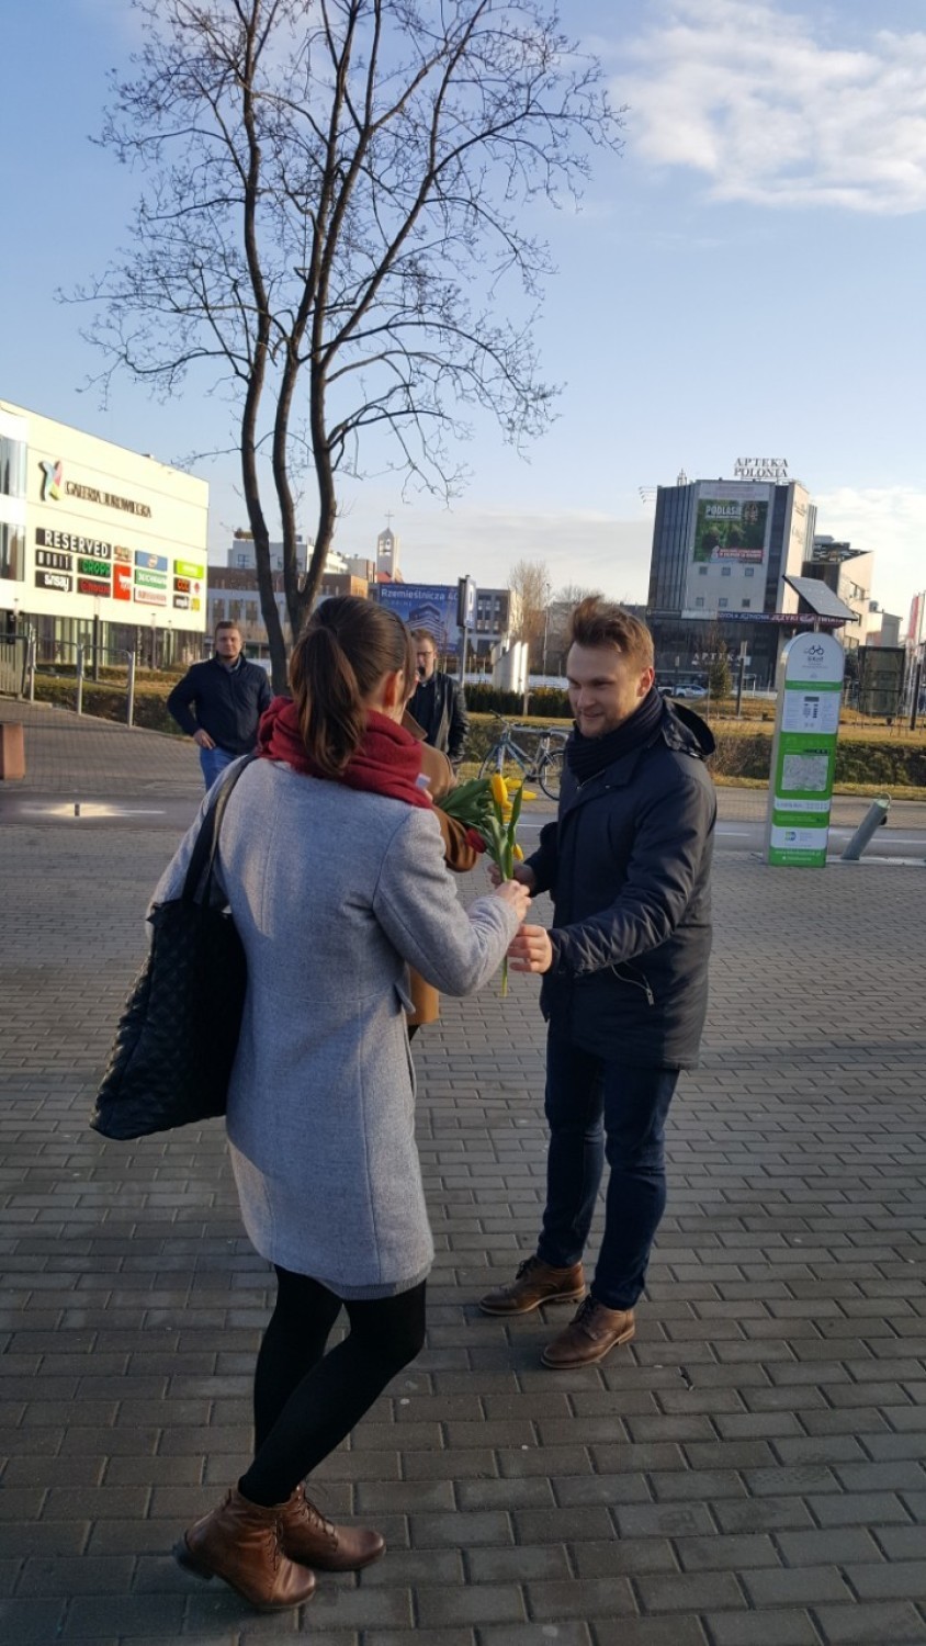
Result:
[[[178,1559],[265,1610],[299,1605],[313,1567],[350,1570],[378,1532],[331,1526],[303,1481],[424,1340],[433,1241],[414,1146],[408,965],[479,989],[526,914],[510,881],[467,910],[419,747],[401,726],[408,630],[370,601],[326,601],[299,639],[293,701],[262,721],[219,848],[248,966],[229,1091],[245,1228],[278,1295],[255,1373],[255,1457]],[[178,895],[196,826],[155,900]],[[327,1338],[344,1305],[349,1337]]]

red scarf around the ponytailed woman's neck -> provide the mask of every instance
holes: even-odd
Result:
[[[285,760],[306,777],[327,777],[327,772],[309,760],[291,698],[273,698],[262,714],[257,752],[265,760]],[[390,800],[403,800],[408,807],[429,807],[431,795],[418,787],[419,772],[421,749],[411,732],[378,709],[368,709],[363,742],[350,756],[337,782],[347,788],[367,788]]]

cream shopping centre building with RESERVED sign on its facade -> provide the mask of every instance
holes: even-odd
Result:
[[[202,655],[209,486],[0,400],[0,622],[39,657]]]

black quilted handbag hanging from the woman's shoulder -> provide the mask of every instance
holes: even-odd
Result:
[[[257,759],[257,756],[252,756]],[[219,828],[242,770],[217,785],[183,892],[151,914],[148,958],[125,1002],[90,1116],[104,1137],[146,1137],[225,1113],[247,966],[214,884]]]

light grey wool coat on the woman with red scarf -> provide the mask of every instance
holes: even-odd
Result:
[[[197,828],[155,902],[179,894]],[[219,877],[248,966],[227,1113],[248,1236],[339,1297],[406,1290],[434,1256],[406,965],[469,994],[518,918],[492,894],[462,909],[431,811],[270,760],[229,797]]]

